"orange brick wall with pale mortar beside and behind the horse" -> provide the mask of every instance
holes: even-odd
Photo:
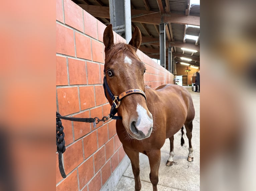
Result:
[[[56,0],[56,110],[74,117],[108,115],[103,91],[105,25],[71,0]],[[115,42],[125,40],[114,33]],[[155,88],[173,83],[173,75],[138,51],[147,63],[145,84]],[[58,170],[56,190],[100,190],[125,156],[115,121],[90,123],[62,120],[66,140],[63,163],[67,178]]]

